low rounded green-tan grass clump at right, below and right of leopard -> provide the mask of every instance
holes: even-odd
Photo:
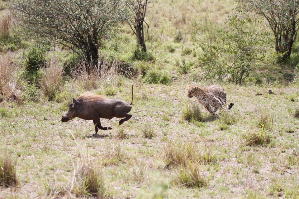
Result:
[[[264,128],[251,129],[243,137],[245,138],[245,144],[249,146],[265,146],[268,144],[273,146],[274,144],[273,135]]]

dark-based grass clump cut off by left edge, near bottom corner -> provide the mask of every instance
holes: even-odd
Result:
[[[15,164],[7,155],[0,156],[0,187],[16,186],[17,184]]]

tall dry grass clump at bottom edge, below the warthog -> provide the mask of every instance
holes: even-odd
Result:
[[[71,192],[79,196],[105,196],[105,186],[101,164],[90,159],[83,158],[74,168],[74,176],[71,183]]]

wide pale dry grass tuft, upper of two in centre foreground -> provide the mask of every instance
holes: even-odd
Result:
[[[190,162],[210,164],[216,163],[216,153],[212,148],[205,147],[201,149],[194,142],[186,139],[183,143],[169,140],[164,145],[164,161],[165,167],[171,168],[175,166],[187,166]]]

